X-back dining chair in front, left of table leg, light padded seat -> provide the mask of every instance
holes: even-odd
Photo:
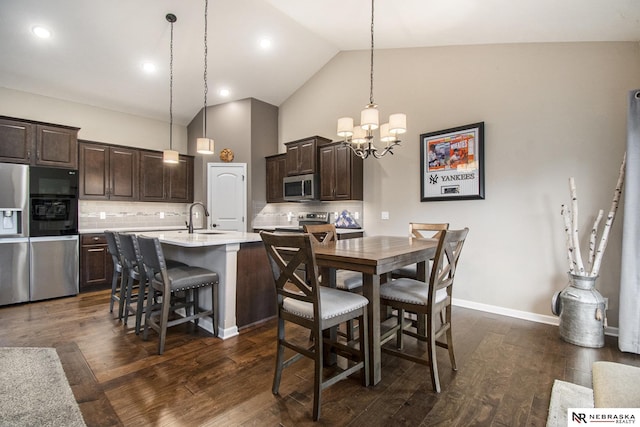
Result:
[[[318,266],[315,259],[311,235],[276,234],[260,232],[267,251],[277,296],[277,353],[273,378],[273,394],[278,394],[284,368],[308,357],[314,362],[313,420],[320,418],[322,390],[362,370],[362,384],[369,384],[367,375],[367,304],[362,295],[320,285]],[[306,277],[298,268],[304,265]],[[346,343],[340,337],[328,333],[348,320],[357,319],[362,333],[355,343]],[[288,337],[285,322],[290,322],[310,331],[312,340],[301,341],[300,335]],[[323,333],[327,331],[327,333]],[[285,360],[285,349],[296,354]],[[335,351],[346,358],[344,369],[331,367],[331,374],[323,375],[323,353]]]

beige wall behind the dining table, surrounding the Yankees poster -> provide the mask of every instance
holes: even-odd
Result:
[[[469,227],[454,297],[551,315],[567,283],[560,205],[577,182],[583,232],[608,211],[626,142],[627,92],[640,87],[637,43],[574,43],[378,50],[381,116],[405,112],[395,155],[365,160],[368,235],[408,223]],[[369,100],[369,52],[341,52],[280,106],[283,143],[335,137],[336,119]],[[358,121],[358,119],[356,119]],[[485,122],[485,200],[420,202],[421,133]],[[388,211],[390,220],[380,220]],[[622,211],[597,284],[618,322]],[[586,234],[586,233],[585,233]]]

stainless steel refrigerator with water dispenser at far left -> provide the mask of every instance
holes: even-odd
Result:
[[[31,169],[0,163],[0,306],[78,293],[77,201],[34,196]],[[58,181],[44,176],[43,182]],[[60,220],[61,213],[73,220]]]

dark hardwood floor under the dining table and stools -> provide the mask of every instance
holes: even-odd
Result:
[[[0,346],[55,347],[88,426],[544,426],[554,379],[591,387],[594,361],[640,366],[613,337],[582,348],[555,326],[454,307],[458,371],[438,349],[442,393],[426,367],[383,353],[382,382],[328,388],[313,423],[310,361],[285,369],[271,393],[274,321],[225,341],[172,328],[158,356],[157,336],[136,336],[108,300],[98,291],[0,308]]]

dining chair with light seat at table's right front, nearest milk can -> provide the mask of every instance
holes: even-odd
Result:
[[[428,366],[431,373],[431,384],[437,393],[440,393],[440,379],[436,346],[446,348],[449,351],[451,368],[454,371],[457,370],[451,331],[451,295],[460,253],[468,233],[468,228],[441,232],[428,283],[415,279],[399,278],[380,286],[381,304],[397,310],[396,324],[382,333],[380,337],[380,343],[384,345],[395,336],[396,346],[395,348],[383,346],[382,351]],[[405,311],[426,317],[424,334],[420,333],[417,328],[414,331],[413,326],[407,326],[404,319]],[[419,341],[426,341],[426,357],[405,351],[404,335],[412,336]],[[439,340],[443,336],[444,342]]]

